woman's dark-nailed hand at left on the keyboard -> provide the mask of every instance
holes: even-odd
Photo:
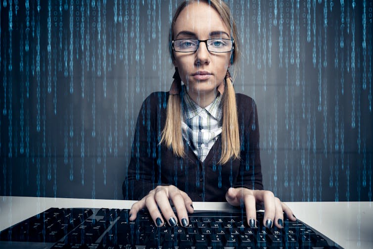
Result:
[[[175,206],[178,217],[176,217],[172,210],[170,200],[172,200],[172,203]],[[179,218],[180,224],[182,224],[183,227],[186,227],[189,224],[187,212],[193,213],[194,211],[192,200],[188,195],[173,185],[157,186],[144,198],[135,202],[130,210],[130,221],[135,220],[137,213],[144,207],[147,208],[157,227],[163,226],[163,217],[167,220],[170,226],[176,226]],[[158,207],[161,210],[163,217],[159,212]]]

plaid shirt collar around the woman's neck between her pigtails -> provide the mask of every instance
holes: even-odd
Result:
[[[216,120],[220,121],[223,114],[223,109],[221,106],[222,103],[222,95],[218,92],[218,95],[211,104],[207,105],[205,108],[201,108],[198,104],[196,104],[193,100],[190,99],[188,93],[186,92],[186,86],[183,85],[183,112],[186,119],[190,119],[198,113],[200,113],[203,109],[205,109],[211,116],[213,116]]]

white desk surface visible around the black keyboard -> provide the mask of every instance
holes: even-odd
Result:
[[[135,201],[0,196],[0,231],[50,207],[131,208]],[[373,249],[372,202],[285,202],[295,216],[346,249]],[[232,210],[226,202],[193,202],[194,210]]]

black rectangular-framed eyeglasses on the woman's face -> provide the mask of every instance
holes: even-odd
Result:
[[[234,41],[230,39],[179,39],[172,41],[172,49],[176,52],[195,52],[200,43],[206,43],[207,50],[216,53],[226,53],[234,50]]]

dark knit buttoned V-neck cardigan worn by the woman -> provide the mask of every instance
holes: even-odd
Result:
[[[174,185],[193,201],[226,201],[225,194],[230,187],[263,189],[258,115],[253,99],[236,94],[240,159],[221,165],[217,164],[222,149],[221,135],[203,162],[185,140],[185,158],[175,156],[171,149],[159,144],[168,97],[168,92],[156,92],[142,103],[122,186],[124,199],[142,199],[158,185]]]

